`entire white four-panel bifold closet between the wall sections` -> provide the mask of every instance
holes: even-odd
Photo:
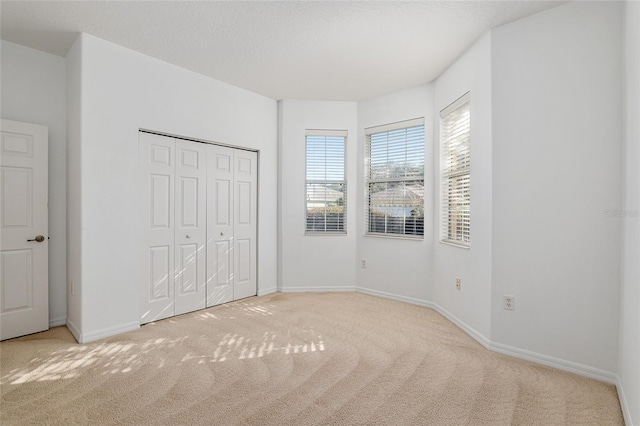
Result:
[[[140,322],[257,293],[257,153],[140,132]]]

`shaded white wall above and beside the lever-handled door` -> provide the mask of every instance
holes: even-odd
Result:
[[[1,43],[2,118],[49,128],[49,325],[62,325],[67,316],[65,60]]]

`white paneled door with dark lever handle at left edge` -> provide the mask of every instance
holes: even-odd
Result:
[[[0,339],[49,328],[48,131],[0,126]]]

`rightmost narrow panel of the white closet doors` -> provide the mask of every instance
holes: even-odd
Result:
[[[235,151],[233,276],[234,300],[257,294],[258,154]]]

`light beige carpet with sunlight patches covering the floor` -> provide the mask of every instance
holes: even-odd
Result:
[[[0,344],[2,424],[619,425],[613,386],[487,351],[431,309],[273,294],[76,344]]]

